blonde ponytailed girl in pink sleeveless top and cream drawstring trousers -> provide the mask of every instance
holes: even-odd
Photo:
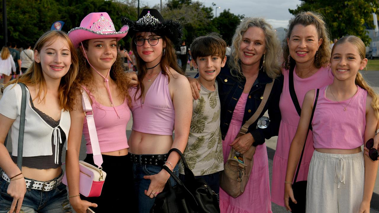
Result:
[[[365,45],[345,36],[332,49],[334,81],[319,90],[313,127],[315,151],[310,163],[306,212],[369,213],[378,162],[363,155],[361,146],[375,135],[378,95],[363,80]],[[301,117],[288,156],[285,204],[296,203],[291,182],[308,132],[315,90],[305,94]]]

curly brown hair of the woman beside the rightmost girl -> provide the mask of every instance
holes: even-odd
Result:
[[[315,60],[313,61],[313,65],[319,69],[321,67],[327,66],[330,61],[330,39],[329,39],[329,31],[327,29],[326,23],[323,20],[323,17],[319,13],[314,12],[301,12],[297,14],[293,19],[290,20],[290,23],[288,24],[288,31],[285,39],[290,38],[291,33],[295,25],[315,25],[317,33],[318,33],[318,39],[322,38],[323,42],[318,48],[317,53],[315,54]],[[295,60],[293,58],[290,58],[290,61],[288,63],[288,56],[290,55],[290,49],[287,45],[287,41],[283,42],[283,67],[286,69],[290,69],[291,64],[295,64]]]

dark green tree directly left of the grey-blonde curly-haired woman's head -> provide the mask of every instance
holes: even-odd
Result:
[[[230,13],[230,9],[224,9],[217,18],[212,20],[212,23],[216,26],[226,43],[231,45],[235,29],[243,17],[244,15]]]

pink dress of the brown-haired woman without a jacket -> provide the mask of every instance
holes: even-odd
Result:
[[[296,67],[293,70],[293,84],[300,107],[302,107],[305,93],[309,90],[323,88],[324,86],[333,83],[333,74],[330,67],[321,67],[315,74],[308,78],[298,77],[295,70]],[[282,69],[282,73],[284,76],[284,83],[279,101],[282,121],[280,121],[278,141],[274,155],[271,201],[277,205],[284,206],[284,181],[287,170],[288,153],[290,152],[291,142],[295,136],[296,129],[298,128],[300,117],[296,112],[290,96],[290,89],[288,86],[289,70]],[[312,132],[309,131],[297,181],[307,180],[313,150],[313,135]]]

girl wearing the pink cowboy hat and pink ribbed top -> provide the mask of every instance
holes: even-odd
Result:
[[[84,197],[79,194],[79,150],[82,133],[86,139],[85,162],[95,165],[89,138],[86,114],[77,96],[77,106],[71,112],[69,146],[67,150],[67,182],[69,199],[77,213],[90,207],[95,212],[118,212],[128,207],[135,212],[136,202],[133,175],[128,157],[126,125],[130,118],[128,94],[129,79],[117,55],[117,41],[124,38],[128,26],[116,31],[107,13],[90,13],[80,27],[69,31],[69,37],[78,48],[78,84],[89,96],[96,132],[106,172],[101,195]],[[87,113],[92,114],[92,113]],[[96,165],[95,165],[96,166]]]

